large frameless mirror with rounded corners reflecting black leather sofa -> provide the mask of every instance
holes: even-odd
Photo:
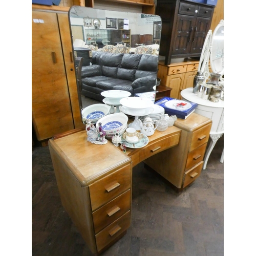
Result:
[[[160,16],[73,6],[69,19],[73,55],[82,57],[82,108],[102,103],[108,90],[155,97]]]

